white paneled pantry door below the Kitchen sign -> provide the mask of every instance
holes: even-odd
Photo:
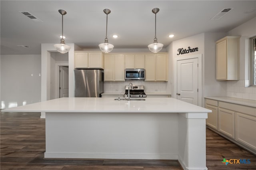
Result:
[[[198,105],[198,58],[177,61],[177,99]]]

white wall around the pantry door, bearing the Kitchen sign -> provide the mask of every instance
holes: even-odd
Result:
[[[215,41],[225,36],[226,33],[197,34],[181,40],[176,40],[167,48],[169,55],[172,53],[170,56],[170,60],[172,61],[175,57],[202,54],[202,105],[204,105],[204,97],[206,96],[226,96],[226,81],[216,81],[215,78]],[[178,55],[179,48],[188,49],[188,47],[198,47],[198,51]],[[169,62],[169,64],[174,65],[176,63]],[[172,66],[170,66],[170,68],[172,68]],[[173,75],[173,69],[170,69],[169,74]],[[171,85],[168,85],[168,87],[169,86]],[[172,89],[172,93],[173,91],[174,89]]]

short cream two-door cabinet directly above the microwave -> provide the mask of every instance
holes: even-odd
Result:
[[[144,69],[145,55],[144,54],[125,54],[126,69]]]

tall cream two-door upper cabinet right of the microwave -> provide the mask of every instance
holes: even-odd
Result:
[[[166,54],[146,54],[145,81],[168,81],[168,57]]]

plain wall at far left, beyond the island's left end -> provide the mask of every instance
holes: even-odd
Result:
[[[41,55],[1,55],[1,109],[41,101]]]

